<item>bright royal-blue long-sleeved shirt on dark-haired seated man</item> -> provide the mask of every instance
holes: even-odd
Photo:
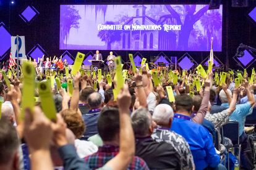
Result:
[[[177,118],[179,116],[179,118]],[[210,132],[189,116],[175,114],[171,130],[180,134],[189,143],[196,169],[215,168],[220,163]]]

